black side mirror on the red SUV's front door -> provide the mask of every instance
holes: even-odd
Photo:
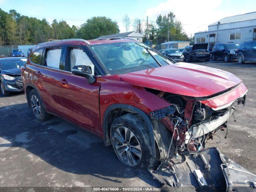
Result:
[[[95,78],[92,76],[92,69],[90,66],[76,65],[72,68],[71,72],[75,75],[85,77],[89,84],[95,82]]]

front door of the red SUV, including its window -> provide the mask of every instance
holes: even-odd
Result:
[[[86,126],[94,133],[101,132],[99,91],[100,83],[89,84],[85,77],[72,74],[75,65],[87,65],[92,69],[92,74],[97,74],[94,64],[79,46],[66,46],[65,70],[62,71],[60,80],[60,95],[63,113],[72,121]]]

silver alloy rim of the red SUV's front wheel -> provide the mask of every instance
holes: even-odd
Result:
[[[140,142],[126,127],[118,127],[114,132],[114,147],[119,158],[128,166],[136,166],[142,158]]]

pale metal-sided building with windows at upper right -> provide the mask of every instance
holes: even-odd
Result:
[[[208,50],[216,42],[256,40],[256,12],[225,17],[208,26],[208,31],[195,33],[195,43],[208,42]]]

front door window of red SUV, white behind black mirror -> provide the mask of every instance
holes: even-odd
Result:
[[[70,68],[72,69],[75,65],[90,66],[94,75],[94,64],[82,49],[71,48],[70,50]]]

